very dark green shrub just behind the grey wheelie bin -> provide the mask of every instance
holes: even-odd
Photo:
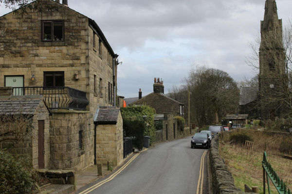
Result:
[[[133,137],[132,144],[139,150],[143,148],[145,126],[143,121],[123,120],[124,137]]]

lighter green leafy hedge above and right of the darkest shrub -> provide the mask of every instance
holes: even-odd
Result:
[[[121,108],[121,113],[123,117],[123,122],[125,119],[143,121],[145,127],[143,135],[150,136],[150,145],[154,143],[155,141],[154,109],[152,109],[149,106],[130,106]]]

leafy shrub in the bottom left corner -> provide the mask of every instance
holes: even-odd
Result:
[[[0,150],[0,193],[31,192],[39,176],[27,158],[18,158]]]

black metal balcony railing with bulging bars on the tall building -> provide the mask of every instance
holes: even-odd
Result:
[[[14,96],[42,95],[49,109],[86,110],[86,92],[70,87],[13,87]]]

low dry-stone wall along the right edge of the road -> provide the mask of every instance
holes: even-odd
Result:
[[[234,184],[227,165],[219,155],[219,135],[212,139],[209,150],[213,194],[245,194]]]

